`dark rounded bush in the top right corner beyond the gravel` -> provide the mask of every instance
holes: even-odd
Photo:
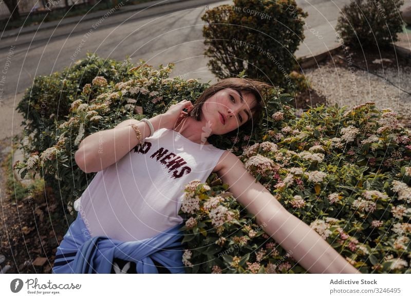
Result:
[[[402,32],[403,0],[353,0],[338,18],[336,30],[354,48],[386,47]]]

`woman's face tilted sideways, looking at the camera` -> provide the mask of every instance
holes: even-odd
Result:
[[[202,106],[202,120],[211,134],[223,135],[245,124],[251,117],[251,108],[256,104],[251,92],[232,88],[219,90]]]

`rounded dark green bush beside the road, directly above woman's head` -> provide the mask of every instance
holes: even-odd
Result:
[[[203,36],[210,70],[222,79],[244,69],[248,77],[293,91],[289,73],[296,68],[306,16],[294,0],[234,0],[207,10],[201,20],[208,23]]]

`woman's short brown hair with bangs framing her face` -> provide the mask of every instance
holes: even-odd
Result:
[[[201,121],[201,110],[204,102],[206,102],[218,91],[226,88],[232,88],[236,91],[241,91],[242,94],[251,93],[254,95],[257,103],[251,109],[251,118],[241,126],[251,126],[251,129],[255,127],[259,123],[261,113],[265,108],[265,100],[263,96],[264,90],[274,88],[274,86],[270,84],[255,79],[227,78],[211,85],[209,88],[203,91],[203,93],[198,97],[197,101],[193,104],[194,109],[191,110],[190,116],[194,117],[197,121]]]

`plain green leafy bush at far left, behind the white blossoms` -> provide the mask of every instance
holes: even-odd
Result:
[[[37,76],[30,88],[17,105],[23,114],[23,125],[30,132],[31,151],[44,151],[55,144],[52,132],[55,121],[69,115],[70,104],[80,95],[84,85],[91,83],[96,76],[104,76],[109,82],[119,82],[127,78],[127,70],[132,67],[129,59],[119,62],[104,60],[87,52],[87,57],[77,61],[61,72],[50,76]],[[93,97],[97,90],[92,90]]]

